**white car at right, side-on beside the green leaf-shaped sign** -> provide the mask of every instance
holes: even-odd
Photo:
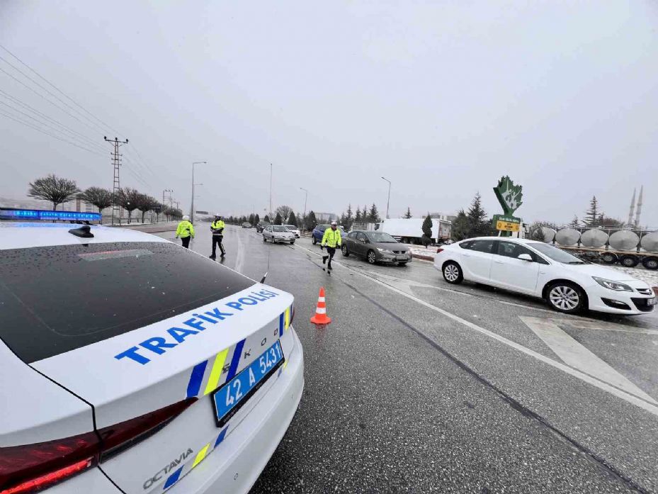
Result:
[[[437,249],[434,267],[450,284],[463,280],[543,298],[567,314],[589,308],[637,315],[654,310],[652,288],[623,271],[584,262],[553,245],[478,237]]]

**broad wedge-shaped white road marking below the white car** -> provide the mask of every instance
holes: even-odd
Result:
[[[565,364],[575,367],[576,369],[579,369],[590,376],[594,376],[601,381],[610,383],[617,388],[623,389],[623,391],[626,391],[627,393],[638,396],[650,403],[654,403],[654,405],[658,405],[658,402],[650,395],[647,395],[647,393],[619,374],[618,371],[606,364],[605,361],[596,357],[596,355],[590,352],[589,349],[567,335],[567,333],[557,325],[558,322],[572,325],[572,321],[530,318],[523,315],[519,316],[519,318],[521,318],[521,320],[533,330],[535,335],[540,337],[542,341],[547,344],[553,352],[555,352],[557,357],[560,357],[560,359],[565,362]]]

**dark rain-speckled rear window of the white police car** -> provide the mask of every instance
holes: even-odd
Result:
[[[0,339],[30,363],[171,318],[253,284],[169,242],[4,250]]]

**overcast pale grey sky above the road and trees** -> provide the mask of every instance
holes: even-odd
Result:
[[[1,0],[0,44],[107,124],[0,60],[45,97],[4,72],[2,91],[100,145],[0,104],[95,151],[0,114],[0,196],[23,197],[52,172],[110,187],[109,126],[133,143],[122,185],[160,198],[174,189],[185,210],[191,162],[206,160],[197,208],[262,216],[272,162],[274,206],[295,210],[304,187],[308,209],[375,202],[383,214],[383,175],[392,217],[407,206],[453,213],[476,191],[500,213],[492,187],[509,174],[523,185],[526,220],[582,217],[593,194],[625,219],[645,184],[642,223],[658,226],[652,0]]]

